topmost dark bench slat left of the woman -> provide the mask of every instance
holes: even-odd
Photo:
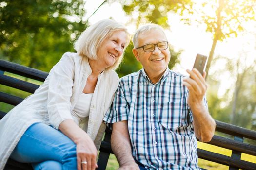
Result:
[[[0,70],[18,74],[27,78],[39,80],[43,82],[48,76],[47,72],[40,71],[35,68],[25,67],[16,63],[0,59]]]

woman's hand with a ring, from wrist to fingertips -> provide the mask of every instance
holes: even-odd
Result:
[[[98,168],[96,163],[98,151],[88,134],[83,134],[74,142],[77,144],[78,170],[95,170]]]

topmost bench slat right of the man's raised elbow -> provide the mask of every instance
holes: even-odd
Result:
[[[218,120],[215,120],[215,122],[216,122],[216,130],[219,132],[256,140],[256,131],[235,126],[233,124],[224,123]]]

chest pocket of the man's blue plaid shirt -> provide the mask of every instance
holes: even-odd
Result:
[[[192,116],[182,102],[164,102],[160,105],[158,121],[166,129],[182,133],[191,125]]]

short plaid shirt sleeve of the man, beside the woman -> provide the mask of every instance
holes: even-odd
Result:
[[[114,100],[103,121],[109,126],[109,123],[128,120],[129,110],[130,106],[125,98],[125,90],[123,85],[119,83]]]

